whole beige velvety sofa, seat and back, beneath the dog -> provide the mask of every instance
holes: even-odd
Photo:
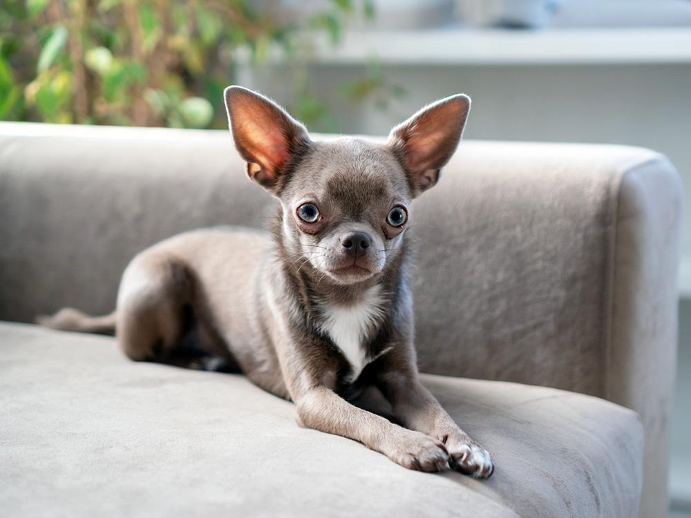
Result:
[[[415,202],[419,366],[493,454],[475,481],[301,429],[242,376],[26,324],[110,311],[140,249],[274,202],[226,132],[0,124],[0,509],[662,517],[680,193],[641,148],[464,142]]]

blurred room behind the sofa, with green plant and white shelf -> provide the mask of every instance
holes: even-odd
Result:
[[[0,119],[224,128],[256,88],[311,131],[473,98],[466,137],[646,146],[691,207],[691,0],[0,0]],[[672,515],[691,517],[691,210]]]

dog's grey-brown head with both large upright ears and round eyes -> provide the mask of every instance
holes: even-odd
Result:
[[[263,95],[230,86],[228,119],[247,174],[281,202],[281,238],[293,264],[350,285],[397,257],[410,202],[439,180],[470,108],[466,95],[437,101],[392,129],[388,142],[315,142]]]

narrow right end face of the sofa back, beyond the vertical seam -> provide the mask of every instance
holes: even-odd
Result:
[[[647,495],[641,517],[665,512],[674,372],[676,269],[681,201],[679,181],[656,162],[621,178],[609,282],[609,347],[604,396],[634,408],[645,422]],[[653,495],[657,495],[655,498]]]

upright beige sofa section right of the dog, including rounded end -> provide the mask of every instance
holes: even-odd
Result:
[[[666,513],[681,192],[641,148],[468,142],[413,215],[422,370],[636,410],[641,516]]]

